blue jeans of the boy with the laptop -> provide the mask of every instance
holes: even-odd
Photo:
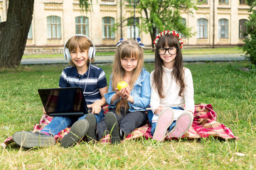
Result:
[[[102,118],[104,117],[103,112],[104,111],[102,110],[99,114],[94,114],[97,123],[99,123],[100,120],[102,120]],[[77,120],[84,119],[86,115],[87,114],[82,115],[80,118],[55,116],[53,120],[51,120],[51,122],[48,125],[46,125],[46,127],[43,128],[43,130],[41,130],[41,132],[47,132],[53,136],[58,135],[58,132],[72,126]]]

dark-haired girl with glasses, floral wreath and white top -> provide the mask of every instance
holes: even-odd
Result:
[[[193,122],[194,100],[191,71],[183,67],[182,40],[175,31],[156,36],[155,67],[150,74],[151,101],[148,113],[156,141],[181,137]]]

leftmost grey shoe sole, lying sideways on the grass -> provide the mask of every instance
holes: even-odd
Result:
[[[16,132],[13,136],[14,142],[24,148],[51,147],[55,145],[55,138],[48,135],[38,135],[33,132]]]

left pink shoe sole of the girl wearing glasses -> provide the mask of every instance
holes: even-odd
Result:
[[[165,108],[159,114],[159,118],[156,123],[156,130],[154,131],[153,140],[161,142],[166,137],[166,130],[174,122],[174,111],[172,108]]]

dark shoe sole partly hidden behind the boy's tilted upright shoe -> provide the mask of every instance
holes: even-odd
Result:
[[[87,136],[87,142],[90,142],[91,140],[97,140],[96,134],[95,134],[95,128],[96,128],[95,115],[93,115],[92,113],[88,113],[85,116],[85,120],[87,120],[89,123],[89,128],[85,133],[85,136]]]

